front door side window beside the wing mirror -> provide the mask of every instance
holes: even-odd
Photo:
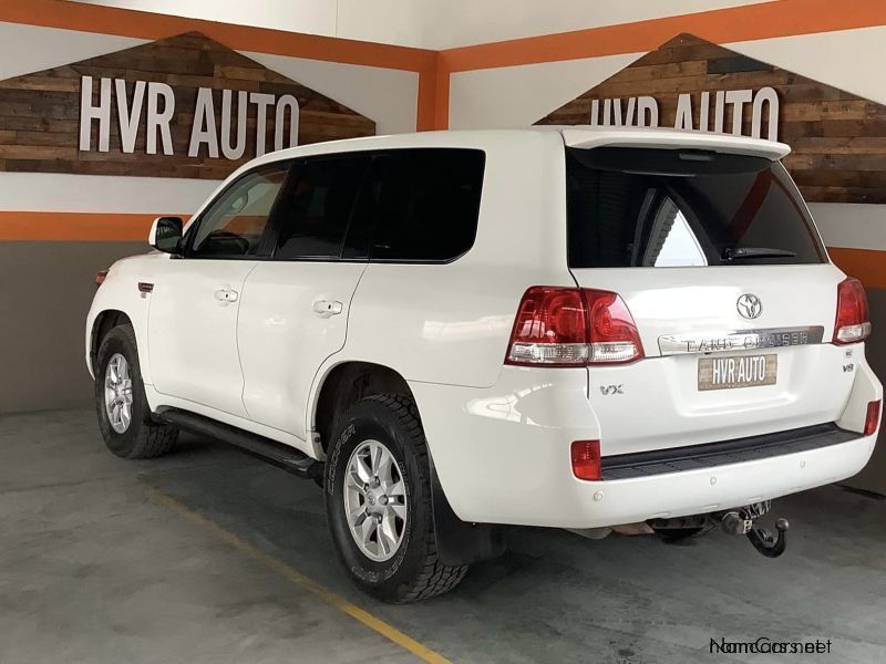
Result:
[[[254,256],[289,172],[289,164],[259,168],[228,187],[200,216],[188,256]]]

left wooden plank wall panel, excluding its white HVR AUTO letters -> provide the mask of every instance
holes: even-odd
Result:
[[[140,123],[135,152],[123,153],[115,103],[112,104],[110,152],[97,152],[99,126],[92,123],[92,151],[79,149],[81,76],[93,77],[93,104],[100,101],[99,79],[124,79],[130,102],[136,81],[169,85],[175,93],[171,123],[174,155],[145,152],[145,122]],[[247,149],[243,158],[210,158],[203,146],[188,157],[199,87],[214,92],[216,127],[222,129],[222,90],[293,95],[299,103],[298,143],[353,138],[375,134],[375,123],[319,92],[282,76],[207,37],[193,32],[133,49],[58,66],[0,82],[0,170],[135,175],[219,179],[256,154],[257,108],[249,104]],[[268,108],[266,145],[274,149],[274,107]],[[236,141],[236,129],[233,132]],[[220,142],[219,142],[220,144]],[[162,151],[161,151],[162,152]]]

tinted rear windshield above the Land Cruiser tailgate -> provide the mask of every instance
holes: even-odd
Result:
[[[825,262],[781,164],[705,151],[566,148],[569,267]]]

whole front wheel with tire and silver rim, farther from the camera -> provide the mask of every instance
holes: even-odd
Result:
[[[178,429],[154,422],[145,397],[132,325],[112,329],[95,362],[95,411],[107,448],[119,457],[145,459],[168,453]]]

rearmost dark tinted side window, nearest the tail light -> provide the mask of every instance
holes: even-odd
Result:
[[[485,154],[402,149],[379,157],[372,260],[446,261],[474,245]]]

